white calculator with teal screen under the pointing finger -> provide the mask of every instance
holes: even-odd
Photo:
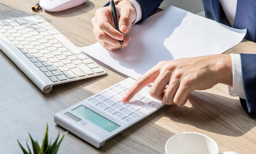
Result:
[[[165,104],[149,94],[146,86],[129,102],[121,102],[124,92],[135,82],[127,78],[84,101],[56,113],[54,122],[96,148],[126,128],[146,118]]]

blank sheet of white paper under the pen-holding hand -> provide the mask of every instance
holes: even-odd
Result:
[[[174,6],[132,26],[128,47],[116,51],[99,43],[80,47],[134,79],[163,60],[219,54],[241,42],[246,30],[230,28]]]

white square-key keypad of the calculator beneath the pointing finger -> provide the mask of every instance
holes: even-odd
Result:
[[[163,105],[139,93],[129,102],[124,103],[121,97],[126,90],[128,90],[126,86],[117,84],[84,101],[125,124],[130,124]]]

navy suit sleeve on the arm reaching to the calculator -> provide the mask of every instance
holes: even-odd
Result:
[[[243,54],[241,68],[245,99],[240,98],[241,105],[246,112],[256,112],[256,54]]]

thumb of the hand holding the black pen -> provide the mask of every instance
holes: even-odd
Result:
[[[119,19],[119,30],[122,33],[128,33],[132,27],[132,23],[135,21],[136,12],[130,9],[121,9]]]

